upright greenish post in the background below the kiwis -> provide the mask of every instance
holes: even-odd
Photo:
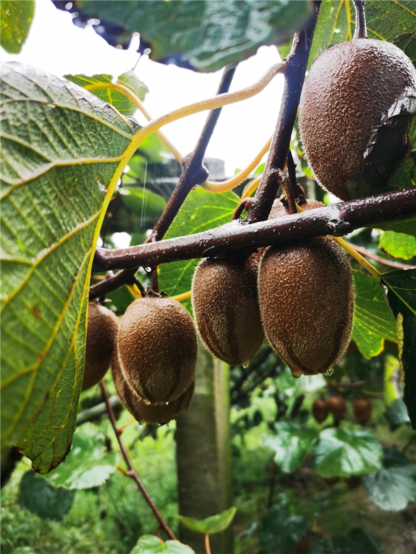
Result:
[[[205,519],[232,506],[229,366],[201,344],[193,399],[177,418],[176,459],[181,515]],[[182,524],[180,540],[205,553],[204,536]],[[212,553],[232,554],[232,528],[211,535],[210,544]]]

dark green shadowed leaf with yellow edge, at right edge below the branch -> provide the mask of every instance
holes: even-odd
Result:
[[[416,270],[396,270],[381,275],[388,287],[387,300],[395,317],[403,401],[416,429]]]

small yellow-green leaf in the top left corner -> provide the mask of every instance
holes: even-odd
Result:
[[[6,52],[18,54],[21,51],[34,14],[35,0],[1,0],[0,44]]]

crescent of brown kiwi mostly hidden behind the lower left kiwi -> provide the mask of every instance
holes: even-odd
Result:
[[[192,381],[189,388],[179,398],[168,404],[145,404],[135,390],[130,388],[127,381],[125,381],[120,368],[119,354],[116,352],[116,349],[114,349],[112,357],[112,376],[117,394],[125,408],[128,409],[138,422],[142,423],[162,423],[175,419],[184,410],[187,410],[195,388],[195,381]]]

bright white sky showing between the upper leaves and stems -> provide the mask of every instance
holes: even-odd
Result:
[[[50,0],[36,0],[35,17],[21,53],[10,55],[3,49],[0,53],[2,61],[31,64],[58,77],[66,73],[110,73],[117,77],[132,69],[138,58],[134,50],[123,51],[109,46],[92,27],[76,27],[71,15],[56,9]],[[262,46],[257,55],[239,64],[230,90],[254,83],[278,61],[279,54],[274,46]],[[150,90],[144,104],[151,116],[157,117],[214,96],[222,71],[195,73],[142,56],[136,73]],[[282,87],[283,77],[277,76],[254,98],[223,108],[207,156],[224,159],[227,175],[248,164],[272,134]],[[139,112],[136,117],[139,123],[144,123]],[[193,150],[206,117],[207,112],[195,114],[170,123],[162,130],[182,154],[187,154]]]

